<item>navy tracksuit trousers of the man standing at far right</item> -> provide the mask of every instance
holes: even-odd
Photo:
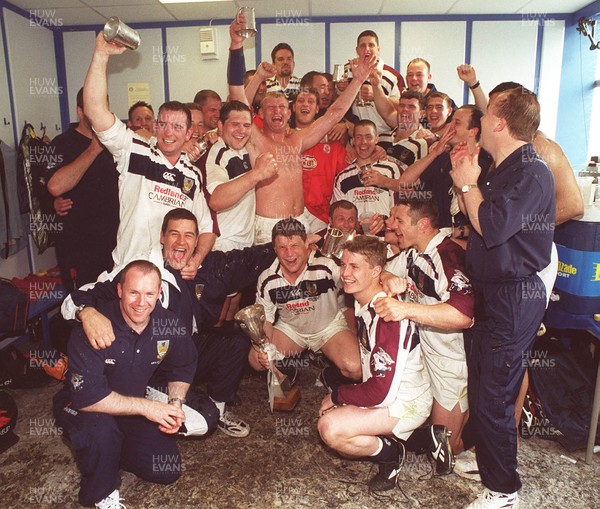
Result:
[[[473,286],[475,325],[464,336],[477,463],[484,486],[513,493],[521,488],[515,401],[544,316],[546,294],[537,275]]]

